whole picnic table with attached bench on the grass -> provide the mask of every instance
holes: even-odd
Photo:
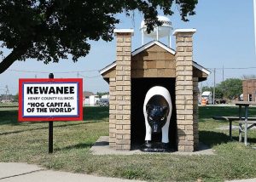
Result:
[[[244,144],[247,145],[247,132],[250,128],[256,127],[256,117],[248,117],[248,107],[250,105],[256,105],[256,102],[236,101],[233,103],[239,106],[238,117],[212,117],[212,118],[215,120],[226,120],[230,122],[230,139],[232,139],[232,122],[237,121],[239,123],[239,141],[241,142],[242,133],[244,133]],[[242,116],[242,112],[241,112],[242,107],[245,108],[244,116]],[[250,125],[248,126],[248,124]]]

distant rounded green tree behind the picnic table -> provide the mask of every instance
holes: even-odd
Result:
[[[225,99],[234,100],[242,93],[242,82],[239,78],[229,78],[217,85]]]

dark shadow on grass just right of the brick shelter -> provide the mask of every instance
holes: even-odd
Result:
[[[199,131],[199,139],[205,145],[213,146],[230,142],[230,136],[212,131]]]

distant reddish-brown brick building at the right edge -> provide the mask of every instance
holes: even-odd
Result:
[[[256,79],[242,81],[242,93],[244,101],[256,101]]]

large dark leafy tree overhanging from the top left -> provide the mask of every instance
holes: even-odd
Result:
[[[172,3],[177,4],[181,19],[195,14],[198,0],[1,0],[0,43],[11,53],[0,63],[0,74],[15,60],[36,59],[58,62],[72,54],[73,61],[90,51],[89,40],[113,39],[113,29],[119,23],[115,14],[144,14],[147,31],[157,20],[157,10],[172,15]],[[2,52],[3,53],[3,52]]]

